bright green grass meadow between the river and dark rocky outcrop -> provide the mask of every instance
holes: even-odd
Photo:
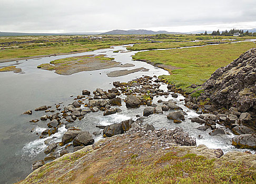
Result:
[[[180,67],[171,71],[171,75],[161,76],[176,87],[188,90],[192,84],[204,83],[219,67],[230,64],[242,53],[256,47],[252,42],[209,45],[195,48],[150,50],[139,52],[133,59],[148,60],[153,63],[163,63]]]

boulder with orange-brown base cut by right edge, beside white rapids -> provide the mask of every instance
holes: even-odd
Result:
[[[256,149],[256,134],[242,134],[232,139],[232,145],[237,148]]]

